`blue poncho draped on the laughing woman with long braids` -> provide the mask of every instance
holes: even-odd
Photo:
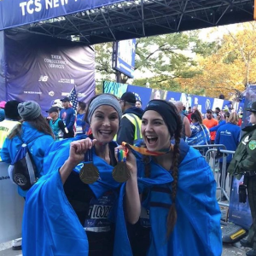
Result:
[[[183,144],[183,143],[182,143]],[[181,145],[181,148],[185,146]],[[148,189],[143,207],[149,210],[151,236],[148,256],[220,256],[222,235],[216,182],[207,162],[194,148],[178,166],[177,223],[166,241],[166,218],[172,204],[172,175],[161,166],[150,162],[150,177],[144,177],[143,163],[137,160],[139,190]],[[125,195],[125,185],[120,190]],[[160,207],[163,206],[163,207]],[[167,207],[165,207],[167,206]],[[127,235],[123,197],[119,196],[116,218],[114,254],[131,256],[131,245]],[[119,246],[121,245],[121,246]]]

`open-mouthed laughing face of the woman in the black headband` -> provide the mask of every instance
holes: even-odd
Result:
[[[142,134],[149,151],[170,147],[171,135],[160,113],[148,110],[143,114]]]

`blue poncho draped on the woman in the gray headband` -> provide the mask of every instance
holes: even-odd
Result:
[[[73,207],[67,201],[59,173],[59,168],[67,160],[69,144],[78,139],[79,137],[74,137],[52,144],[44,164],[44,168],[48,169],[47,174],[27,193],[22,226],[24,256],[88,255],[86,233]],[[110,190],[116,193],[119,183],[113,180],[113,166],[96,156],[95,152],[93,162],[101,177],[96,183],[90,184],[96,198],[101,198]],[[77,166],[73,172],[79,172],[80,167]]]

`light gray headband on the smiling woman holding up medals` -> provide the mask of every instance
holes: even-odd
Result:
[[[119,121],[122,118],[122,109],[120,107],[119,101],[111,95],[102,94],[97,96],[92,102],[90,102],[89,112],[88,112],[88,122],[90,124],[91,117],[95,112],[96,108],[99,108],[102,105],[108,105],[113,107],[119,115]]]

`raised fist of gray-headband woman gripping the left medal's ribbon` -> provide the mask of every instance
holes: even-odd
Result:
[[[70,143],[69,157],[67,161],[74,166],[77,166],[81,161],[84,160],[84,154],[88,149],[96,143],[96,140],[90,140],[89,137],[83,140],[75,141]]]

